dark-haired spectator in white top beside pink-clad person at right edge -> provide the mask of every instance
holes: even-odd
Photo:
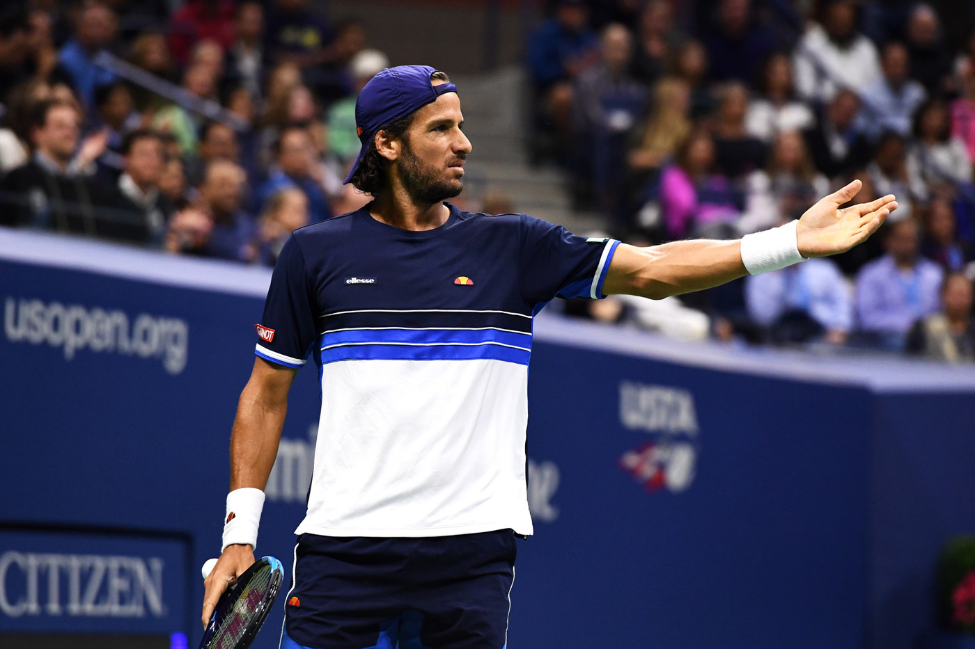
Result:
[[[972,163],[965,144],[952,135],[948,106],[928,100],[917,109],[908,166],[928,185],[972,182]]]

